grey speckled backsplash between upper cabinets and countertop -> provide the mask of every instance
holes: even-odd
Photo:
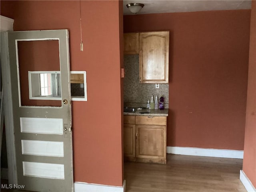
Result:
[[[158,102],[160,96],[164,96],[164,108],[169,106],[169,84],[142,84],[139,78],[139,55],[124,55],[124,106],[146,107],[151,96],[156,95]]]

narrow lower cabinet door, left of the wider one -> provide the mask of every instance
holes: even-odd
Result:
[[[135,161],[135,125],[124,124],[124,157]]]

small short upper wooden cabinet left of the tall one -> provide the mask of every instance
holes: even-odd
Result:
[[[124,54],[139,54],[139,33],[124,33]]]

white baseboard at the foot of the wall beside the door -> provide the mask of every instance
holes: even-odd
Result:
[[[74,192],[125,192],[126,181],[123,186],[99,185],[84,182],[74,182]]]

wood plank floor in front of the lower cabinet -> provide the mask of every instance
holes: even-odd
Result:
[[[246,192],[242,159],[167,154],[167,164],[124,163],[126,192]]]

